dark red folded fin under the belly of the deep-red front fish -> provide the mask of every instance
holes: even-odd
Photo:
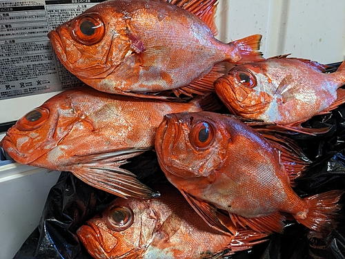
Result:
[[[224,215],[218,211],[213,204],[198,200],[184,191],[181,191],[181,193],[184,195],[184,198],[186,198],[190,206],[193,207],[193,209],[210,227],[226,234],[234,235],[237,232],[237,228],[230,221],[228,215]]]

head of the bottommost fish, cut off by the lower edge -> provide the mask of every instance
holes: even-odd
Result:
[[[159,213],[142,199],[117,198],[77,230],[93,258],[141,258],[159,227]]]

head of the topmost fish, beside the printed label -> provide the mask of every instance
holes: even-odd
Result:
[[[107,77],[131,53],[128,17],[117,2],[99,3],[48,33],[63,66],[82,81]]]

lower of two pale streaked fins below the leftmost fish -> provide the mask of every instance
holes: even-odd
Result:
[[[116,167],[83,166],[72,172],[83,182],[121,198],[156,198],[159,192],[137,180],[133,173]]]

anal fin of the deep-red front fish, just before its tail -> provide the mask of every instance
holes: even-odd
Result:
[[[244,229],[249,227],[260,233],[282,233],[284,230],[285,216],[279,212],[259,218],[244,218],[234,213],[229,213],[229,215],[235,225]]]

